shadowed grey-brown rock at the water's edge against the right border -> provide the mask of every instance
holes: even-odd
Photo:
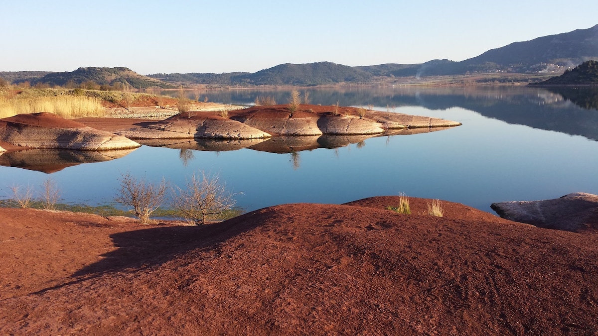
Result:
[[[490,206],[502,218],[573,232],[598,230],[598,195],[572,193],[553,200],[509,201]]]

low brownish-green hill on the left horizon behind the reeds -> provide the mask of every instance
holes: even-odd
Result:
[[[80,85],[92,81],[99,85],[120,84],[133,88],[175,88],[176,85],[155,78],[139,75],[129,68],[78,68],[72,72],[53,72],[33,81],[49,85],[65,86],[68,83]]]

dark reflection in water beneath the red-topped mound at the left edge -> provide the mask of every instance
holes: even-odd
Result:
[[[136,148],[115,151],[72,151],[68,149],[25,149],[0,152],[0,166],[19,167],[54,173],[81,163],[110,161],[124,157]]]

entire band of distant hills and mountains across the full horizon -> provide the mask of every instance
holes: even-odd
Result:
[[[73,72],[0,72],[0,77],[19,83],[31,81],[50,85],[65,85],[94,81],[97,84],[129,84],[135,88],[178,87],[178,85],[302,85],[315,86],[338,83],[364,84],[392,77],[467,75],[508,72],[514,74],[560,74],[567,68],[588,60],[598,60],[598,25],[568,33],[543,36],[531,41],[514,42],[486,51],[480,56],[454,62],[431,60],[422,64],[382,64],[346,66],[331,62],[286,63],[255,73],[224,74],[152,74],[142,76],[128,68],[79,68]]]

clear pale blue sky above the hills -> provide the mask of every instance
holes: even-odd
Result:
[[[463,60],[598,24],[597,0],[0,0],[0,71],[255,72]]]

